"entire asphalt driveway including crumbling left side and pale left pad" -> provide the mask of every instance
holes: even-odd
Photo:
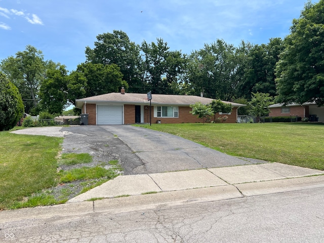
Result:
[[[63,152],[89,153],[95,164],[118,159],[124,175],[266,163],[230,156],[175,135],[130,125],[30,128],[14,133],[64,137]]]

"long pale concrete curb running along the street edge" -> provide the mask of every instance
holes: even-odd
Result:
[[[9,210],[0,212],[0,222],[20,219],[51,218],[54,216],[69,217],[79,215],[81,217],[82,215],[91,213],[115,214],[318,187],[324,187],[323,175],[166,191],[153,194],[106,198],[95,201],[81,201],[48,207]]]

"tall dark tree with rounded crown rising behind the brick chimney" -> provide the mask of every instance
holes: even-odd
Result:
[[[97,36],[95,47],[86,48],[86,63],[111,65],[116,64],[129,84],[129,92],[139,92],[143,83],[140,73],[140,49],[131,42],[121,30],[103,33]]]

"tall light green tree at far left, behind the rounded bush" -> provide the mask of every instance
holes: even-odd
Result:
[[[28,45],[25,51],[17,52],[16,57],[4,59],[0,69],[21,93],[25,112],[32,112],[39,102],[39,87],[45,74],[42,51]]]

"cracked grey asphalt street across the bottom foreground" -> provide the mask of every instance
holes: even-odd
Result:
[[[107,207],[73,216],[0,218],[0,242],[319,243],[323,201],[324,190],[314,188],[124,213]]]

